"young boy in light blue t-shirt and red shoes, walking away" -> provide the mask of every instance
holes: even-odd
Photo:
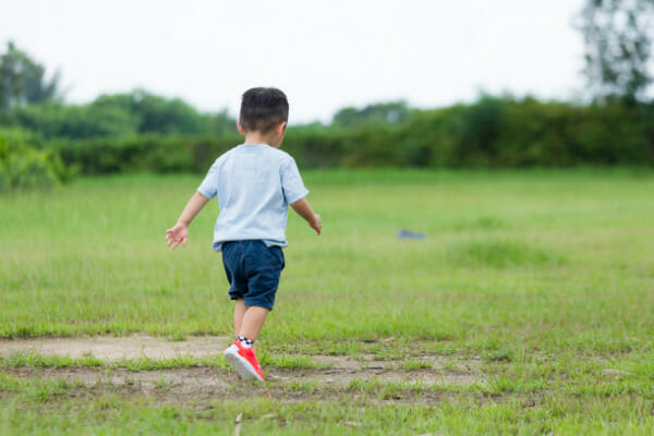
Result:
[[[243,378],[264,380],[254,341],[272,310],[284,267],[289,204],[320,234],[320,217],[304,198],[295,160],[279,150],[289,116],[286,95],[277,88],[252,88],[243,94],[239,132],[245,142],[221,155],[177,225],[166,230],[168,245],[186,246],[189,225],[204,205],[218,196],[220,214],[213,247],[222,252],[229,295],[235,300],[237,338],[225,356]]]

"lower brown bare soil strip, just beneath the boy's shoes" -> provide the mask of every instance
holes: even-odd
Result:
[[[193,367],[179,370],[157,370],[130,372],[126,370],[104,370],[92,367],[74,368],[0,368],[0,373],[21,378],[38,378],[65,380],[69,383],[65,398],[88,398],[104,395],[119,395],[124,398],[147,397],[158,403],[173,403],[189,408],[206,408],[211,401],[241,400],[254,397],[272,398],[283,402],[305,400],[338,400],[342,398],[365,398],[366,401],[407,401],[434,403],[440,401],[446,393],[438,390],[383,389],[359,390],[340,383],[339,377],[324,377],[320,374],[306,374],[291,371],[279,372],[275,376],[268,372],[266,383],[243,382],[235,372],[215,367]],[[359,378],[352,376],[352,378]],[[364,374],[365,376],[365,374]],[[376,374],[379,382],[387,378]],[[409,375],[411,377],[411,375]],[[420,377],[413,377],[417,380]],[[300,382],[314,380],[315,384]],[[425,385],[415,385],[426,387]],[[9,393],[9,392],[5,392]],[[0,392],[0,398],[2,397]],[[55,399],[55,398],[52,398]]]

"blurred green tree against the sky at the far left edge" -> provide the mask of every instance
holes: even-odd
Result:
[[[0,55],[0,111],[58,98],[59,72],[48,81],[46,69],[13,43]]]

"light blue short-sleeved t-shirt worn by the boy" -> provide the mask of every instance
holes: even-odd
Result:
[[[308,194],[295,160],[267,144],[242,144],[225,153],[197,192],[209,199],[218,196],[213,243],[217,252],[223,242],[253,239],[287,246],[289,204]]]

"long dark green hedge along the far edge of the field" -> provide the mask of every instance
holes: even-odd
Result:
[[[57,141],[88,174],[204,172],[239,135]],[[414,110],[401,124],[290,128],[282,149],[302,168],[523,168],[654,165],[654,108],[582,106],[484,96],[473,105]]]

